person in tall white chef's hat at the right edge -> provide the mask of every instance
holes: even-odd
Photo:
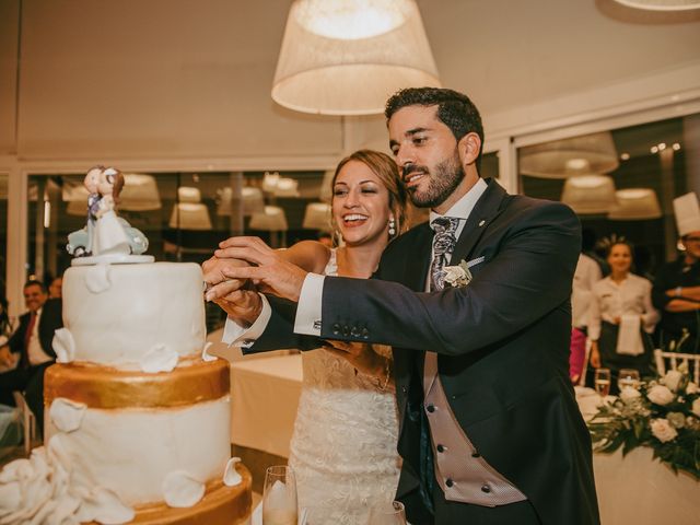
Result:
[[[661,311],[658,343],[667,347],[684,338],[679,351],[700,353],[700,206],[696,194],[674,199],[676,225],[682,253],[658,269],[652,289],[654,306]]]

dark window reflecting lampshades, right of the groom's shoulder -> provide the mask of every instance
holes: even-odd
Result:
[[[521,148],[521,191],[567,202],[588,242],[623,235],[653,275],[677,256],[673,199],[700,189],[699,136],[693,115]]]

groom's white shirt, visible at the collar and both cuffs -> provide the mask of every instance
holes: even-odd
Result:
[[[494,183],[495,184],[495,183]],[[456,217],[459,220],[459,225],[455,232],[455,236],[459,238],[464,225],[467,222],[467,218],[471,213],[471,210],[476,206],[477,201],[486,191],[488,185],[482,178],[479,178],[477,183],[467,191],[457,202],[453,205],[444,217]],[[441,217],[434,211],[430,212],[430,220]],[[464,220],[462,220],[464,219]],[[432,260],[432,252],[431,252]],[[302,285],[302,290],[299,296],[299,305],[296,308],[296,317],[294,318],[294,332],[305,334],[308,336],[320,336],[320,313],[322,313],[322,299],[324,290],[325,276],[318,273],[307,273]],[[267,301],[264,302],[262,313],[256,319],[256,322],[246,330],[237,325],[232,319],[226,319],[226,326],[224,328],[224,336],[222,341],[228,345],[234,345],[240,347],[246,347],[253,345],[255,339],[262,334],[267,323],[270,319],[270,305]]]

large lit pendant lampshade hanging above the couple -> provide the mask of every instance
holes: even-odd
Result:
[[[281,106],[372,115],[402,88],[439,86],[415,0],[295,0],[272,83]]]

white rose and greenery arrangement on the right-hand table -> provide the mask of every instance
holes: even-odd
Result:
[[[674,471],[700,479],[700,387],[685,365],[663,377],[626,386],[612,404],[604,404],[588,421],[594,451],[627,454],[649,446]]]

